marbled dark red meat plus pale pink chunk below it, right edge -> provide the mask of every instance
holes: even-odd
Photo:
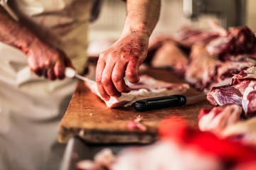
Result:
[[[233,76],[232,84],[207,94],[213,109],[202,109],[199,128],[256,147],[256,67]]]

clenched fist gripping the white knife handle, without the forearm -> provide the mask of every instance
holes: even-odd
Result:
[[[65,77],[65,67],[73,67],[70,59],[59,50],[42,40],[34,40],[26,51],[31,71],[46,79],[55,80]]]

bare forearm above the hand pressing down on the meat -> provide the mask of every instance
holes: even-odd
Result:
[[[160,6],[160,0],[127,0],[122,35],[141,32],[150,36],[159,20]]]

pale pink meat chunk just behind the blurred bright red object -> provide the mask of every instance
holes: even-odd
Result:
[[[236,104],[225,104],[211,110],[201,109],[198,115],[198,128],[219,135],[226,127],[237,123],[241,114],[242,107]]]

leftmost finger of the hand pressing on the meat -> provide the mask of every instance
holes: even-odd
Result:
[[[107,92],[105,91],[103,85],[102,85],[102,72],[105,68],[105,62],[102,62],[101,60],[99,60],[97,62],[97,67],[96,67],[96,83],[97,83],[97,90],[100,93],[100,96],[102,96],[102,98],[105,99],[105,101],[109,101],[110,100],[110,96],[107,94]]]

